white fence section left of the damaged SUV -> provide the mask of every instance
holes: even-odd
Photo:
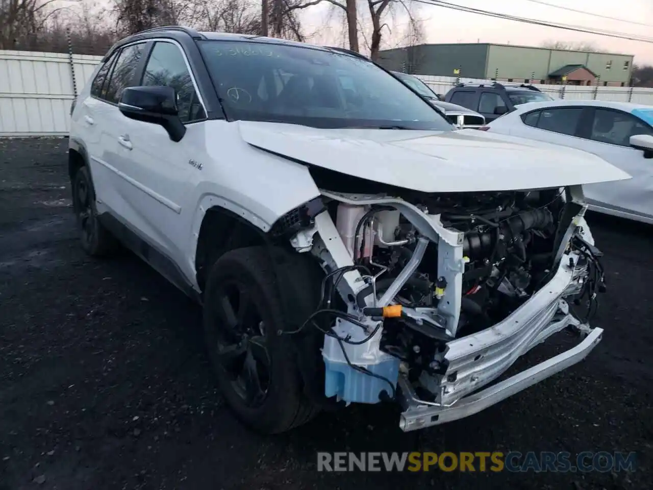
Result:
[[[101,59],[72,56],[78,93]],[[72,99],[67,54],[0,50],[0,137],[67,135]]]

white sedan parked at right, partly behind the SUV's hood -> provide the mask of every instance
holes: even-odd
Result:
[[[482,129],[571,146],[609,161],[632,178],[583,186],[588,208],[653,224],[653,106],[573,100],[528,103]]]

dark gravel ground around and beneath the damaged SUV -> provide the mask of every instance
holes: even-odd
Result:
[[[0,140],[0,490],[651,487],[651,227],[590,216],[606,253],[595,320],[605,335],[563,374],[418,433],[402,433],[391,407],[357,406],[262,437],[223,406],[199,308],[129,253],[84,256],[66,151],[65,139]],[[572,342],[558,337],[526,360]],[[316,471],[316,451],[347,450],[637,451],[639,461],[631,473]]]

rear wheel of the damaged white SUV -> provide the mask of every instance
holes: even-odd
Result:
[[[72,179],[72,207],[84,252],[91,257],[116,252],[118,241],[97,219],[95,189],[87,167],[80,167]]]

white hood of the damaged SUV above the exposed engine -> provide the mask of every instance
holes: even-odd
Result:
[[[596,155],[475,129],[317,129],[240,121],[247,143],[294,161],[422,192],[537,189],[624,180]]]

